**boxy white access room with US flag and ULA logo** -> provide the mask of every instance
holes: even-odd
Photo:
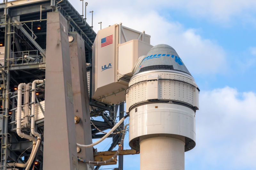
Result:
[[[132,68],[150,48],[149,35],[122,24],[98,31],[92,54],[92,98],[108,104],[125,101]]]

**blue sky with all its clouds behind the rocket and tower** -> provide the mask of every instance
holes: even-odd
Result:
[[[87,2],[87,22],[93,10],[96,33],[100,21],[102,28],[122,22],[144,30],[152,45],[172,46],[195,78],[200,108],[186,170],[256,169],[255,0]],[[80,1],[71,3],[82,13]],[[105,151],[110,143],[96,147]],[[109,167],[117,166],[102,166]],[[139,155],[124,156],[124,170],[131,169],[139,169]]]

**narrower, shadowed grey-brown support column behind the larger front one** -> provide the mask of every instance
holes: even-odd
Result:
[[[84,40],[76,32],[69,33],[73,41],[69,43],[70,66],[73,87],[73,103],[75,116],[80,118],[76,123],[76,142],[92,144],[92,130],[90,122],[89,94],[87,87],[86,62]],[[83,160],[93,161],[92,148],[80,148],[77,156]],[[94,169],[91,164],[78,162],[79,170]]]

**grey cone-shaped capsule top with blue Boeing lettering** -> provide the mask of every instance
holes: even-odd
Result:
[[[135,71],[135,74],[149,70],[175,70],[191,76],[177,52],[166,44],[159,44],[151,48]]]

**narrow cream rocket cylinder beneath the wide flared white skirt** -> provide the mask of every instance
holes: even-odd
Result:
[[[184,170],[185,137],[183,139],[170,137],[141,139],[140,170]]]

